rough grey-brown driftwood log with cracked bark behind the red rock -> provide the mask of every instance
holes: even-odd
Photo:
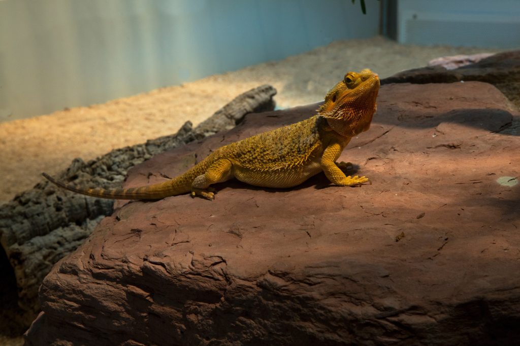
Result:
[[[275,94],[276,89],[268,85],[252,89],[194,129],[188,121],[173,135],[115,149],[86,163],[76,158],[59,178],[79,186],[120,187],[134,165],[167,149],[230,129],[248,113],[274,109]],[[60,258],[82,244],[103,217],[112,213],[113,203],[75,195],[42,179],[33,189],[0,206],[0,319],[12,321],[18,316],[16,323],[22,328],[32,322],[40,310],[37,294],[45,275]],[[13,297],[18,306],[13,305]]]

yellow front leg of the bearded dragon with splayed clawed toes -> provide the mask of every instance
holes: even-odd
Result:
[[[340,144],[332,143],[323,151],[320,164],[327,178],[329,178],[333,184],[339,186],[360,186],[363,183],[370,182],[365,176],[346,176],[345,173],[343,173],[335,162],[342,150],[343,148]],[[348,164],[349,162],[344,163],[344,165]],[[340,165],[343,164],[340,162]]]

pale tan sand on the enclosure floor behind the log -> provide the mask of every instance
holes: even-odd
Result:
[[[322,100],[347,71],[368,67],[384,78],[437,57],[498,51],[404,46],[382,37],[336,41],[281,61],[179,86],[0,123],[0,203],[41,181],[41,172],[53,175],[67,168],[75,157],[87,161],[114,148],[172,134],[187,120],[196,126],[238,94],[261,84],[274,86],[278,107],[286,108]]]

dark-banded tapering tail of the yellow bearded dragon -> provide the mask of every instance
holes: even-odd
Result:
[[[176,196],[191,190],[190,184],[179,184],[179,179],[172,179],[164,183],[153,184],[149,186],[133,187],[128,189],[103,189],[103,188],[76,188],[56,181],[53,177],[46,173],[42,175],[51,183],[67,189],[72,192],[81,193],[82,195],[93,196],[108,199],[148,199],[158,200],[168,196]],[[181,176],[182,177],[182,176]],[[181,178],[179,177],[179,178]],[[184,180],[184,179],[183,179]]]

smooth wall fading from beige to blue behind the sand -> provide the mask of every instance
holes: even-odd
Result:
[[[379,33],[367,0],[0,0],[0,121]]]

